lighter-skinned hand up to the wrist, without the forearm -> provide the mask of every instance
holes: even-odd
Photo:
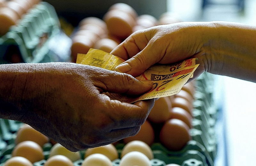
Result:
[[[126,60],[116,71],[138,76],[151,65],[175,63],[190,57],[197,57],[199,67],[194,78],[207,70],[207,55],[204,43],[210,36],[204,35],[203,23],[175,23],[154,26],[131,34],[111,54]]]

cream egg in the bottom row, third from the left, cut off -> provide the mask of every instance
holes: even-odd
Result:
[[[95,153],[86,157],[82,166],[112,166],[112,162],[105,155]]]

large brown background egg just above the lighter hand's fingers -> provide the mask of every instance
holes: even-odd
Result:
[[[135,21],[129,14],[118,10],[108,11],[104,16],[104,21],[108,32],[121,39],[132,34],[132,27],[135,25]]]

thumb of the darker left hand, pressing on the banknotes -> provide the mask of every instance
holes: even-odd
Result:
[[[94,85],[110,93],[139,95],[148,92],[153,83],[151,80],[140,81],[129,74],[116,72],[100,78]]]

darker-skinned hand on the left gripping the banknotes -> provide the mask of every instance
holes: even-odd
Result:
[[[73,63],[9,64],[5,69],[10,67],[9,75],[19,68],[19,81],[14,81],[8,101],[1,97],[0,103],[11,103],[20,116],[8,118],[31,125],[71,151],[135,135],[154,104],[154,99],[119,101],[152,87],[151,81],[128,74]],[[114,100],[116,94],[119,100]]]

